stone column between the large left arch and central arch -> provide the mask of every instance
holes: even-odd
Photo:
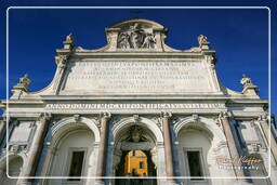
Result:
[[[98,158],[96,167],[96,184],[105,184],[102,176],[105,175],[106,169],[106,150],[107,150],[107,140],[108,140],[108,119],[110,118],[109,113],[104,113],[101,115],[101,141],[98,148]]]

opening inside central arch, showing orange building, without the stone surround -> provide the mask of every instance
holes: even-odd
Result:
[[[117,179],[115,184],[156,185],[156,179],[144,179],[157,176],[155,146],[155,136],[147,128],[132,124],[122,129],[115,147],[115,175],[135,179]]]

